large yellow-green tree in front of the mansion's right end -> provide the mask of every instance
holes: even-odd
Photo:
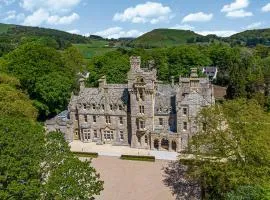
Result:
[[[270,187],[270,116],[254,100],[232,100],[203,109],[200,131],[189,143],[193,159],[185,178],[198,182],[203,199],[226,199],[239,186]],[[269,195],[269,193],[268,193]]]

